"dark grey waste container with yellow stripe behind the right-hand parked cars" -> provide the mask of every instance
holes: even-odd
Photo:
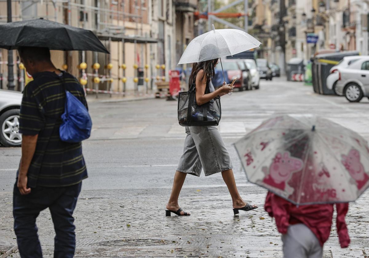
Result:
[[[327,77],[333,66],[345,56],[357,56],[358,51],[344,51],[331,54],[316,55],[312,58],[311,73],[313,76],[313,90],[318,94],[334,95],[335,92],[327,88]]]

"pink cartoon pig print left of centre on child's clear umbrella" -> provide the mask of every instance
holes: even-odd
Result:
[[[285,191],[288,186],[287,181],[291,178],[292,173],[300,171],[303,168],[303,164],[303,161],[299,158],[291,157],[288,151],[284,152],[283,155],[277,153],[275,158],[273,158],[269,171],[264,167],[266,176],[263,182]],[[292,193],[293,190],[292,192],[290,190],[288,192]]]

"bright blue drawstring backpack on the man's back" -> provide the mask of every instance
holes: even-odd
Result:
[[[64,78],[63,86],[65,90]],[[90,137],[92,121],[89,111],[67,90],[65,90],[65,110],[62,114],[62,120],[59,135],[63,142],[77,143]]]

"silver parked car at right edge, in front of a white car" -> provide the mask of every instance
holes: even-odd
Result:
[[[347,68],[338,68],[335,88],[338,95],[344,95],[350,102],[369,97],[369,57],[360,58]]]

